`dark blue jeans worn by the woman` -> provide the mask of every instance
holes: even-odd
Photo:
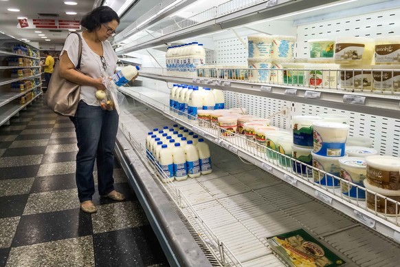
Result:
[[[94,189],[93,167],[97,160],[98,192],[107,195],[114,190],[114,147],[118,131],[117,111],[87,105],[82,100],[74,117],[78,154],[76,155],[76,186],[80,202],[91,200]]]

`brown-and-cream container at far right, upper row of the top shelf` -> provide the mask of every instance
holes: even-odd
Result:
[[[400,63],[400,36],[375,39],[375,64]]]

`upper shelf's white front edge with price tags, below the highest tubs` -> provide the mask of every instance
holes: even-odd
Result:
[[[162,69],[159,70],[163,73]],[[345,109],[377,116],[391,118],[400,117],[400,95],[346,92],[338,89],[315,89],[312,87],[267,83],[249,83],[218,78],[169,76],[165,74],[148,73],[145,72],[145,70],[140,72],[140,76],[158,81],[212,87],[242,94]]]

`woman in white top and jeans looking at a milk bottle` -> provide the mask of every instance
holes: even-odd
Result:
[[[118,131],[118,113],[115,109],[111,111],[102,109],[95,96],[98,89],[107,90],[100,76],[104,72],[107,76],[111,76],[117,67],[117,55],[107,39],[115,34],[119,23],[118,14],[107,6],[96,8],[82,18],[80,25],[86,30],[78,33],[82,40],[80,72],[76,70],[79,58],[77,34],[69,34],[60,54],[60,76],[82,85],[78,109],[71,120],[74,122],[78,140],[76,185],[80,209],[85,213],[97,211],[91,201],[95,192],[93,180],[95,161],[100,195],[116,201],[125,199],[124,195],[115,191],[113,186],[113,149]]]

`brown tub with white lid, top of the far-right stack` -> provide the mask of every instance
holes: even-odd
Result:
[[[392,156],[366,157],[367,179],[370,185],[388,190],[400,190],[400,158]]]

